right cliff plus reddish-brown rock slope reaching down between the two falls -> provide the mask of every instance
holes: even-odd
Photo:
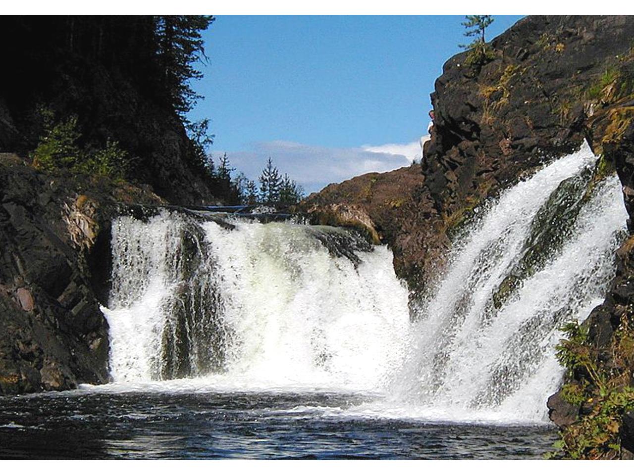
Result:
[[[407,180],[402,170],[363,175],[302,207],[323,219],[329,206],[359,206],[387,230],[377,229],[399,276],[422,289],[442,267],[452,232],[482,200],[586,137],[600,142],[605,124],[590,122],[585,89],[628,53],[633,33],[627,16],[524,18],[491,42],[492,61],[470,66],[460,53],[445,63],[431,96],[435,121],[420,179],[413,168]],[[368,198],[372,179],[391,190],[385,200]],[[391,210],[389,201],[404,204]]]

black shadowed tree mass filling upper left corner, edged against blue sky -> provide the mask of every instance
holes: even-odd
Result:
[[[185,118],[199,98],[212,16],[1,16],[0,151],[29,155],[46,132],[38,111],[77,117],[81,149],[119,143],[130,178],[170,195],[198,179],[214,196],[209,121]],[[183,127],[186,127],[186,134]],[[165,145],[169,143],[169,150]],[[172,170],[171,167],[177,168]],[[178,194],[178,193],[176,193]],[[183,193],[186,194],[186,193]]]

